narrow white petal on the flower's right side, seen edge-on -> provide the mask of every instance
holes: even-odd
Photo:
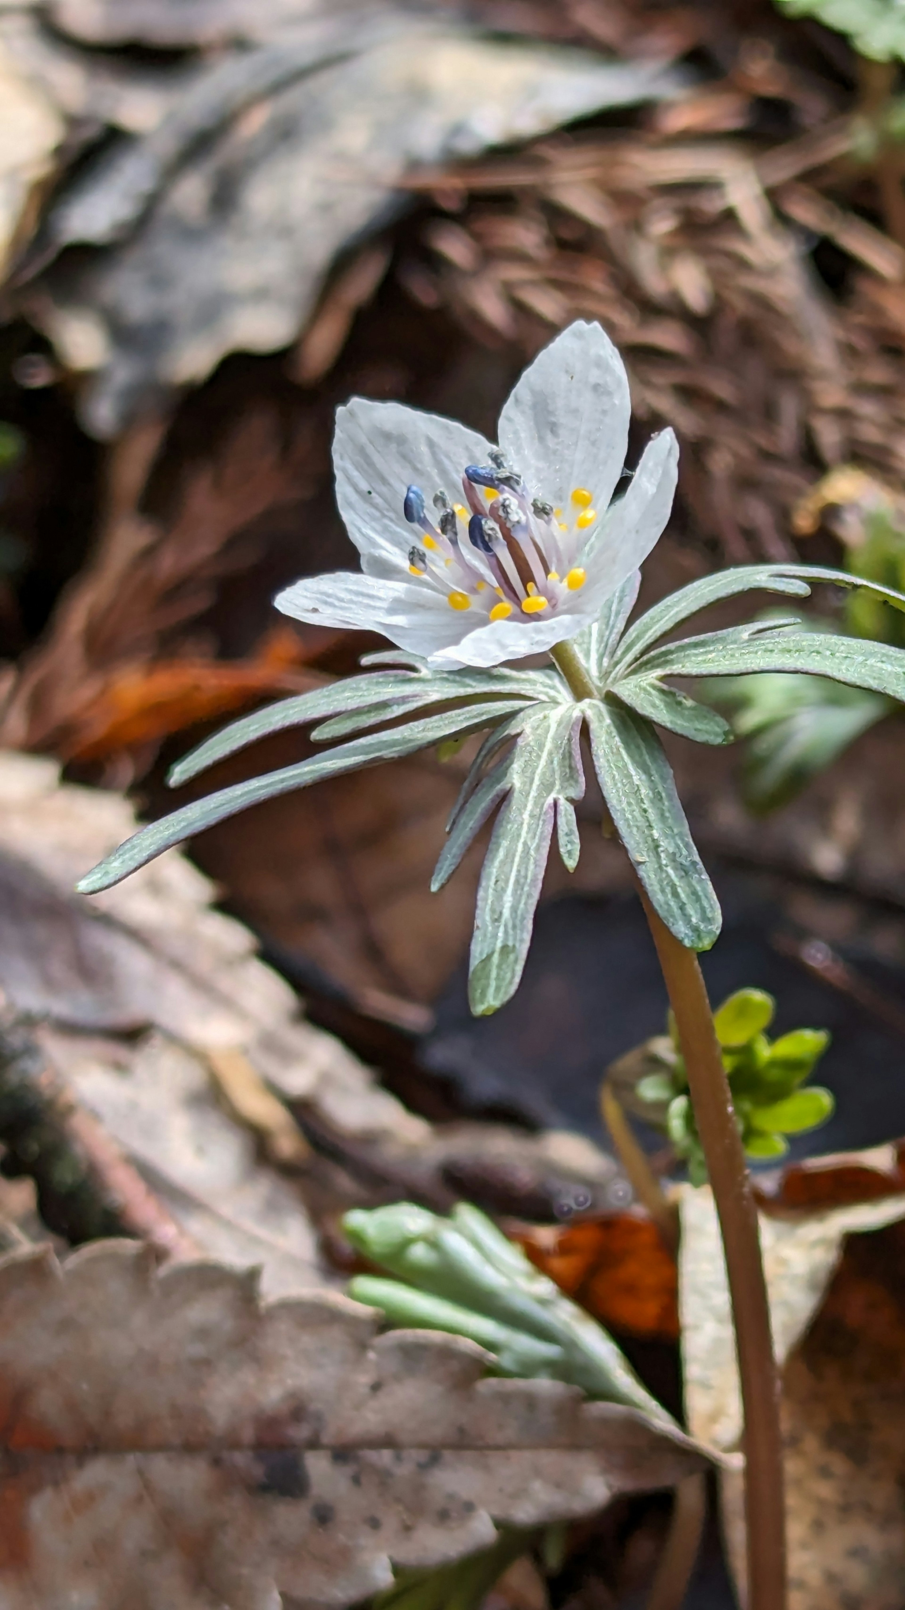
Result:
[[[581,592],[594,604],[615,592],[660,539],[673,507],[676,477],[678,441],[672,430],[662,430],[644,448],[625,497],[612,504],[580,554],[578,564],[588,572]]]

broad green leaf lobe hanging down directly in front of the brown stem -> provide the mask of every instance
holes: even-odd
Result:
[[[604,799],[652,905],[683,945],[709,950],[720,932],[720,905],[657,734],[609,700],[581,708]]]

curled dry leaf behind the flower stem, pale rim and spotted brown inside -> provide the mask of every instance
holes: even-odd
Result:
[[[681,1217],[688,1420],[728,1452],[739,1443],[741,1404],[710,1190],[686,1187]],[[902,1604],[903,1219],[902,1195],[760,1219],[783,1380],[791,1610]],[[725,1472],[721,1484],[733,1571],[744,1581],[739,1473]]]

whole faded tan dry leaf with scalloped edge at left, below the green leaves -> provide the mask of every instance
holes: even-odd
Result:
[[[113,900],[71,895],[77,874],[134,829],[118,797],[60,786],[56,768],[0,757],[0,989],[40,1019],[53,1075],[98,1119],[196,1246],[259,1264],[271,1291],[325,1278],[300,1185],[258,1159],[277,1135],[227,1111],[211,1059],[243,1064],[274,1108],[293,1101],[340,1146],[398,1161],[432,1140],[254,955],[246,929],[209,908],[211,886],[174,855]],[[280,1162],[304,1145],[279,1106]],[[287,1143],[296,1133],[291,1158]],[[271,1153],[272,1154],[272,1148]]]

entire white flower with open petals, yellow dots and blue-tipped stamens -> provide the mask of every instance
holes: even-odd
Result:
[[[430,665],[499,665],[573,638],[634,572],[673,502],[678,444],[620,480],[628,382],[597,324],[573,324],[517,382],[499,446],[456,420],[364,398],[337,414],[337,499],[361,575],[296,581],[277,609],[380,631]]]

